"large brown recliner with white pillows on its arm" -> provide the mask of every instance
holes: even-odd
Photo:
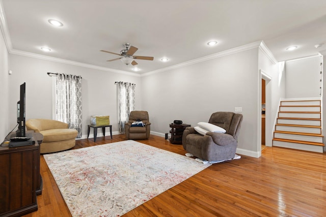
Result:
[[[206,161],[225,161],[233,159],[237,147],[242,114],[233,112],[215,112],[209,123],[226,130],[226,133],[208,132],[201,135],[193,127],[183,131],[183,148],[195,157]]]

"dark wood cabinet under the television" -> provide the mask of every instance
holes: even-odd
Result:
[[[0,216],[21,216],[38,209],[36,195],[42,193],[40,148],[34,145],[0,147]]]

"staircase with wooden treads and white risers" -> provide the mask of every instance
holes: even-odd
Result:
[[[281,101],[273,146],[322,153],[321,101]]]

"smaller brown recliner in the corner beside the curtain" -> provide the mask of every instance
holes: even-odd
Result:
[[[131,123],[137,120],[143,121],[144,127],[131,127]],[[148,139],[151,131],[150,125],[147,111],[131,111],[129,120],[124,126],[126,139]]]

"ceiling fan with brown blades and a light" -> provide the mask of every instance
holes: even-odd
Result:
[[[100,51],[122,56],[122,57],[119,57],[119,58],[109,59],[109,60],[106,60],[106,61],[111,62],[111,61],[114,61],[114,60],[121,59],[121,61],[125,65],[129,65],[129,64],[131,64],[132,66],[137,65],[138,63],[136,63],[136,61],[134,59],[144,59],[144,60],[153,60],[154,59],[154,57],[152,57],[152,56],[133,56],[133,54],[138,50],[138,48],[131,46],[131,44],[129,44],[129,43],[124,43],[123,45],[125,46],[125,49],[121,50],[120,54],[119,53],[114,53],[114,52],[111,52],[111,51],[106,51],[106,50],[100,50]]]

